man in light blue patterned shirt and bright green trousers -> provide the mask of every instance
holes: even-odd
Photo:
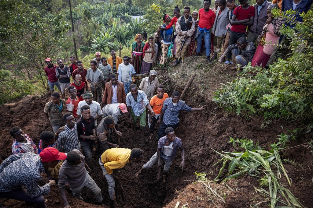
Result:
[[[144,91],[138,90],[135,84],[130,85],[130,92],[126,95],[126,105],[129,114],[129,119],[133,123],[133,131],[136,131],[136,121],[139,117],[141,126],[141,138],[148,142],[145,137],[146,131],[146,106],[150,110],[152,116],[155,116],[151,108],[147,95]]]

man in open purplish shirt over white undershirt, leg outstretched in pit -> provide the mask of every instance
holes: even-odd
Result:
[[[158,161],[158,166],[160,167],[160,171],[161,171],[161,166],[162,166],[161,158],[162,158],[165,162],[164,170],[163,170],[163,182],[166,182],[166,178],[170,170],[170,167],[172,165],[172,161],[176,155],[177,148],[179,148],[182,152],[182,162],[180,163],[179,167],[182,167],[182,170],[184,170],[185,150],[182,147],[182,140],[176,137],[176,133],[172,127],[166,128],[165,133],[166,133],[166,136],[161,137],[159,139],[156,153],[150,158],[150,160],[146,164],[142,166],[142,168],[138,172],[136,172],[135,176],[138,176],[143,169],[148,169],[152,167],[152,165],[156,161]]]

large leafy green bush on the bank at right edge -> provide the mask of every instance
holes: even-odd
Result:
[[[284,16],[292,16],[292,12]],[[282,29],[291,51],[287,57],[279,58],[269,69],[248,65],[239,79],[215,92],[213,101],[238,115],[261,114],[266,120],[312,120],[313,12],[302,16],[303,24]],[[300,47],[303,53],[299,53]]]

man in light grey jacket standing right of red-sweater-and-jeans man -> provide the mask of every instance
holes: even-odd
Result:
[[[219,0],[218,5],[219,7],[216,11],[215,20],[212,28],[212,33],[214,34],[214,54],[211,61],[216,59],[217,54],[221,51],[223,40],[225,40],[225,37],[227,35],[226,26],[229,23],[229,19],[227,16],[229,9],[226,7],[226,0]]]

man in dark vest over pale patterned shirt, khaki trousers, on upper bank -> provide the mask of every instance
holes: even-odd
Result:
[[[184,56],[187,48],[191,42],[191,36],[195,31],[195,21],[189,15],[190,8],[184,8],[184,16],[181,16],[177,19],[176,23],[176,60],[174,66],[182,63],[182,57]]]

